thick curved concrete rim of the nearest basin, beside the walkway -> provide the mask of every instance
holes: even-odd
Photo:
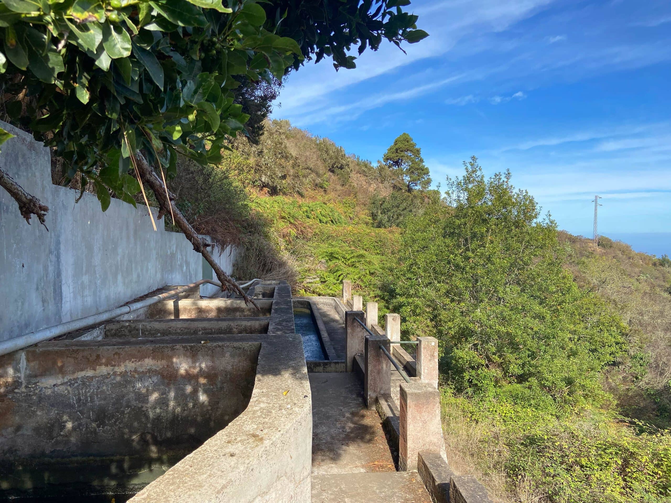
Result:
[[[301,336],[264,337],[246,410],[130,501],[309,503],[311,470],[312,402]]]

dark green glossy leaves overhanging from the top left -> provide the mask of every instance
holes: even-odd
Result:
[[[178,152],[219,162],[250,116],[234,103],[238,77],[281,80],[303,52],[351,68],[351,44],[417,42],[416,20],[395,0],[3,0],[0,86],[13,119],[56,149],[69,178],[93,180],[104,210],[108,189],[134,203],[137,151],[172,174]]]

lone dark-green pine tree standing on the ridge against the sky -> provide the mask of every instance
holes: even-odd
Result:
[[[424,165],[421,148],[408,133],[403,133],[394,140],[382,157],[382,162],[391,176],[408,192],[429,188],[429,168]]]

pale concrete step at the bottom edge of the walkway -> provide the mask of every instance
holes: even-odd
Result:
[[[312,503],[431,503],[417,471],[312,476]]]

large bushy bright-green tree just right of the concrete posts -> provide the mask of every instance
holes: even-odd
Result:
[[[473,158],[448,178],[448,203],[411,217],[393,269],[391,307],[412,335],[442,341],[456,390],[574,404],[623,351],[625,326],[581,290],[555,223],[510,174],[486,180]]]

